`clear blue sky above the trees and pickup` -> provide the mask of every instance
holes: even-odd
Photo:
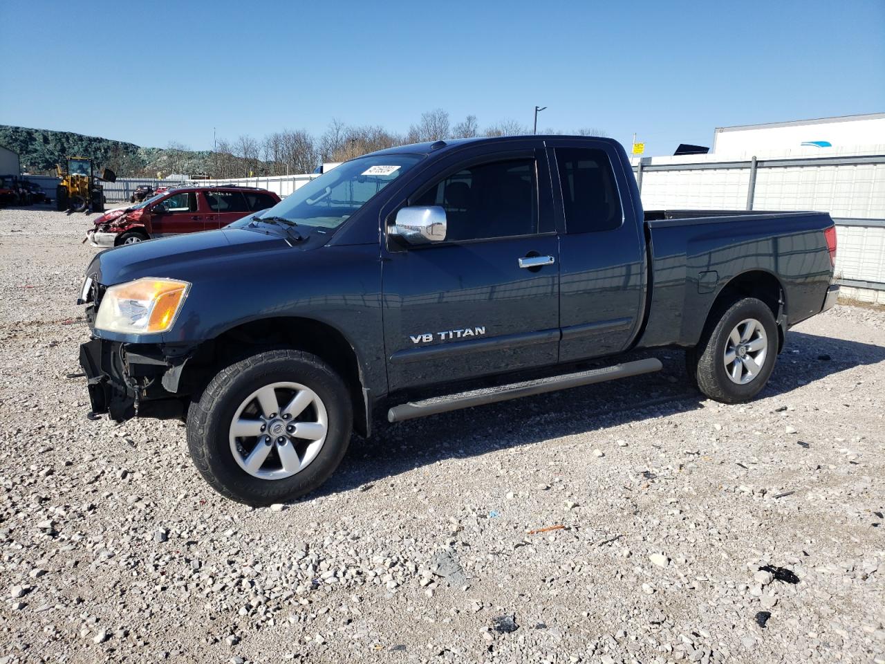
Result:
[[[539,104],[540,127],[672,154],[714,127],[885,111],[885,2],[0,0],[0,62],[0,124],[146,146],[404,132],[440,107],[530,125]]]

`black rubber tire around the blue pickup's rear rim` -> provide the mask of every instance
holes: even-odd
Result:
[[[748,369],[743,369],[748,373],[741,375],[740,378],[746,379],[747,382],[740,384],[727,372],[726,350],[732,331],[745,320],[755,320],[761,324],[765,335],[763,337],[758,333],[756,338],[764,338],[766,351],[761,364],[754,360],[753,366],[758,367],[755,373],[750,374]],[[742,345],[746,351],[745,344],[739,345]],[[777,359],[777,349],[777,323],[771,309],[755,297],[744,297],[732,305],[720,307],[711,313],[700,342],[696,348],[686,353],[686,368],[689,375],[694,375],[698,389],[707,397],[725,404],[740,404],[750,401],[766,386]],[[734,364],[731,366],[735,367]],[[739,374],[742,373],[740,367],[736,370]]]

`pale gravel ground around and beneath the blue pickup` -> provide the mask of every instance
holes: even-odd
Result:
[[[0,211],[0,664],[885,662],[885,313],[797,326],[751,404],[661,351],[251,509],[179,423],[85,417],[88,219]]]

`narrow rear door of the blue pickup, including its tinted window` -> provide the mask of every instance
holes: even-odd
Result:
[[[619,153],[602,141],[547,145],[559,228],[565,229],[559,360],[623,351],[642,321],[646,266]]]

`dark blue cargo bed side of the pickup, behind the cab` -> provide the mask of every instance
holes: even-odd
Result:
[[[640,345],[696,344],[716,296],[742,275],[778,282],[784,328],[820,313],[833,269],[826,212],[651,210],[644,219],[652,296]]]

